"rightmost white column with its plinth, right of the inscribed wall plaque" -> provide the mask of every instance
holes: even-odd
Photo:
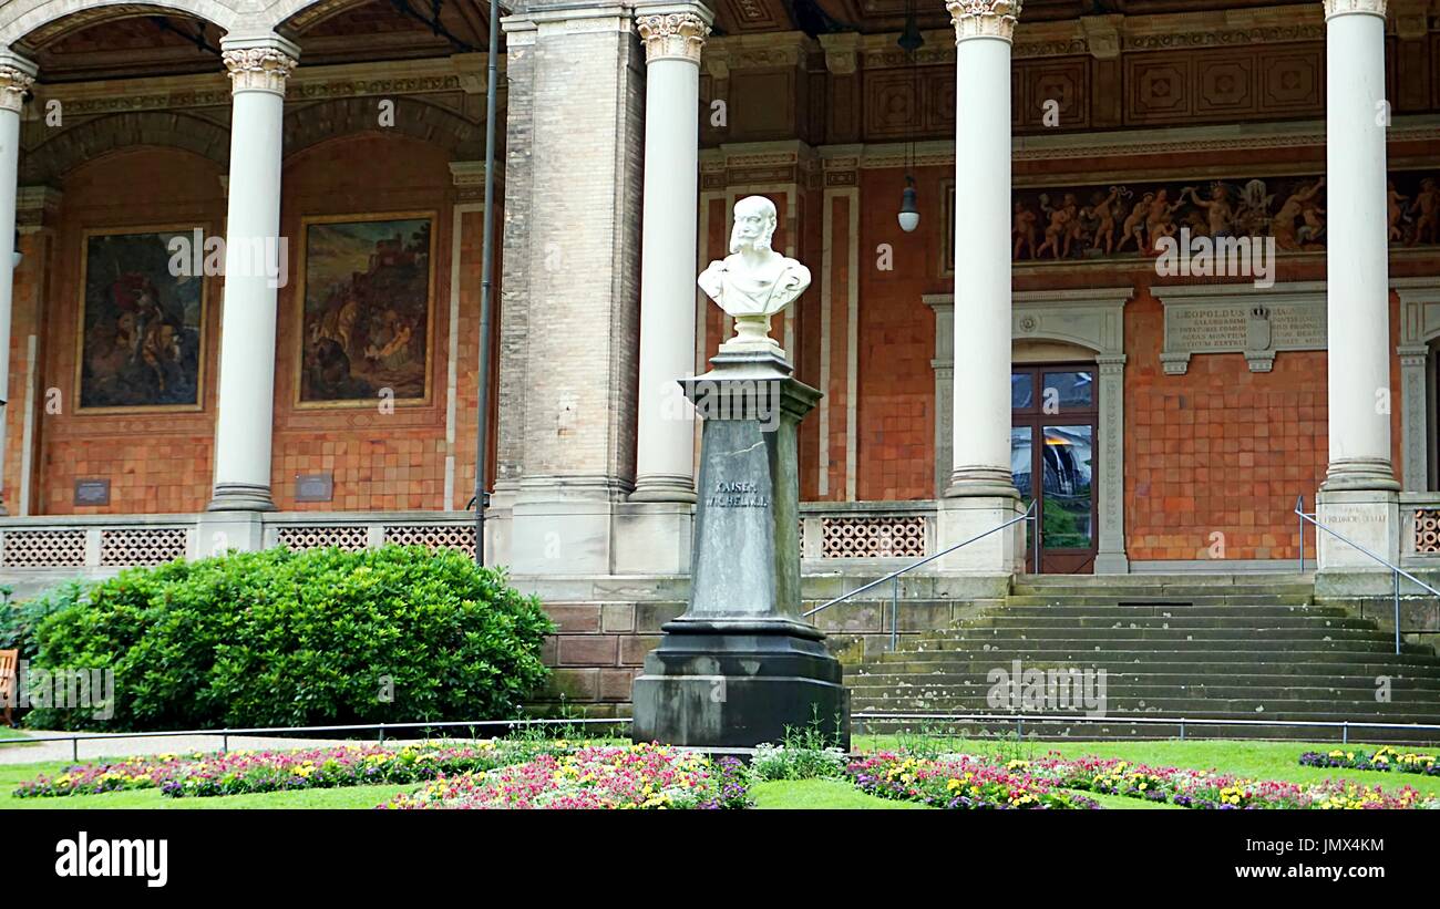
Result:
[[[1390,460],[1390,262],[1385,220],[1385,0],[1325,0],[1326,296],[1331,463],[1320,522],[1398,558]],[[1328,534],[1320,570],[1385,571]]]

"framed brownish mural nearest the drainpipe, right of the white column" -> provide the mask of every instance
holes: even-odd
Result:
[[[297,407],[431,401],[435,213],[301,221]]]

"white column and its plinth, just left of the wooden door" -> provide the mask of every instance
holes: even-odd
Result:
[[[955,26],[953,470],[940,544],[955,545],[1020,513],[1009,472],[1011,129],[1009,56],[1020,0],[948,0]],[[948,570],[1008,575],[1024,525],[946,557]]]

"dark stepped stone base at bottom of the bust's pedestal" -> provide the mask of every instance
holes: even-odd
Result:
[[[814,728],[850,749],[850,692],[814,627],[680,618],[665,631],[635,680],[635,741],[753,748]]]

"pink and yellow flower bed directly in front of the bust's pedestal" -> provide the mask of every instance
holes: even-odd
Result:
[[[494,771],[442,777],[382,808],[743,808],[747,775],[664,745],[588,746]]]

